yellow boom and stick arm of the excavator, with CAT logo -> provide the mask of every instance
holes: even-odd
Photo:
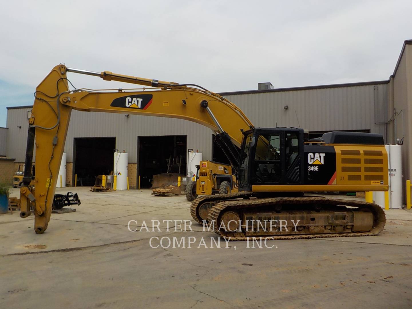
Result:
[[[72,89],[67,73],[100,76],[153,88],[140,89]],[[73,87],[73,85],[71,85]],[[74,87],[73,87],[74,88]],[[222,96],[193,84],[70,69],[59,65],[44,78],[35,91],[26,148],[26,164],[21,187],[22,218],[35,211],[35,232],[42,234],[52,212],[54,191],[72,110],[115,112],[185,119],[210,128],[234,167],[238,166],[242,131],[253,128],[243,112]],[[36,143],[34,143],[36,140]],[[35,188],[29,187],[35,146]],[[235,147],[237,146],[237,147]]]

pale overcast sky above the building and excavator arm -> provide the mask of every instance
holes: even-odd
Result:
[[[387,80],[412,39],[410,12],[410,0],[2,1],[0,126],[61,62],[215,92]]]

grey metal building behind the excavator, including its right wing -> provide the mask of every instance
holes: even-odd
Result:
[[[313,137],[326,131],[381,133],[385,143],[403,143],[403,171],[410,178],[412,151],[412,40],[405,41],[389,80],[287,89],[221,93],[235,103],[255,126],[294,126]],[[31,106],[7,108],[7,156],[24,161],[27,118]],[[21,126],[21,127],[20,127]],[[186,136],[185,147],[203,159],[216,158],[210,129],[186,120],[73,110],[66,139],[67,183],[73,184],[75,140],[115,138],[115,148],[129,153],[129,180],[136,187],[139,138]],[[141,168],[141,167],[140,167]]]

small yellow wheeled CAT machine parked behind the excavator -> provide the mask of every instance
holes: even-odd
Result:
[[[197,167],[196,181],[186,185],[186,199],[193,201],[198,195],[228,194],[238,192],[232,167],[213,161],[201,161]]]

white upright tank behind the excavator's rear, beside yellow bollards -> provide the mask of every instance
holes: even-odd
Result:
[[[402,146],[385,145],[388,153],[389,208],[402,208]],[[385,207],[385,192],[376,192],[375,203]]]

